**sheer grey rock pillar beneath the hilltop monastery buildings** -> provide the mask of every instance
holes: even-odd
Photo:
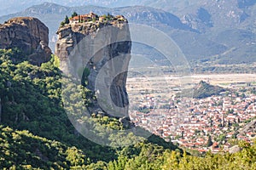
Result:
[[[90,113],[128,116],[125,84],[131,37],[127,20],[71,24],[59,28],[57,34],[55,54],[61,60],[61,70],[87,70],[82,84],[97,96]]]

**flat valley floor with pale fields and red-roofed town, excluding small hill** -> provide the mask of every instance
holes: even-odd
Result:
[[[206,99],[176,98],[183,88],[201,80],[229,91]],[[177,76],[127,80],[130,116],[137,126],[201,152],[228,151],[233,139],[252,142],[255,127],[243,129],[256,117],[255,88],[256,74],[191,75],[186,81]]]

